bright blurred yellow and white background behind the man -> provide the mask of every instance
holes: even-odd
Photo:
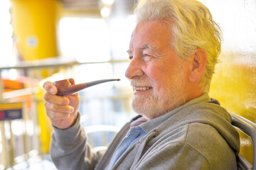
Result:
[[[223,29],[210,97],[256,123],[256,1],[201,2]],[[135,3],[0,1],[0,169],[55,169],[48,155],[52,128],[43,105],[45,81],[121,79],[80,92],[81,123],[95,149],[135,115],[124,77]],[[241,145],[252,163],[251,140],[245,137]]]

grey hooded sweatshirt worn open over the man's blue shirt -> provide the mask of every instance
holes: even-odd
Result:
[[[92,153],[82,126],[55,128],[50,154],[59,170],[105,169],[129,130],[117,134],[105,154]],[[112,169],[237,169],[239,134],[228,112],[216,103],[183,108],[151,130],[119,158]]]

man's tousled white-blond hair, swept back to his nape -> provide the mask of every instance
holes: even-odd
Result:
[[[137,22],[169,23],[171,47],[178,57],[187,60],[197,48],[206,50],[206,72],[201,79],[204,92],[210,89],[221,46],[221,31],[208,8],[196,0],[140,0],[134,9]]]

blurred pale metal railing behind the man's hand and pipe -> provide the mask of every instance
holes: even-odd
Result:
[[[12,67],[0,67],[0,78],[2,78],[2,72],[6,70],[15,69],[17,72],[26,73],[26,83],[29,84],[28,87],[23,89],[18,89],[15,91],[4,92],[3,81],[0,81],[0,103],[13,103],[18,102],[22,103],[22,118],[21,119],[11,119],[11,120],[1,120],[0,129],[1,129],[1,162],[0,169],[7,169],[14,164],[19,162],[24,162],[28,160],[31,155],[41,154],[41,142],[40,142],[40,132],[41,128],[38,125],[38,103],[43,101],[43,98],[37,96],[41,91],[39,82],[46,78],[42,76],[43,71],[47,71],[48,75],[52,75],[56,72],[63,71],[64,74],[74,74],[75,67],[78,67],[82,64],[104,64],[104,63],[121,63],[127,62],[127,60],[110,60],[105,62],[76,62],[68,61],[63,62],[59,59],[47,59],[41,61],[33,62],[21,62]],[[73,72],[73,73],[72,73]],[[24,75],[23,75],[24,77]],[[111,100],[116,100],[122,98],[124,100],[129,100],[129,94],[120,94],[121,96],[106,96],[107,98],[112,98]],[[29,96],[28,98],[21,98],[21,96]],[[102,98],[102,96],[101,96]],[[121,99],[121,100],[122,100]],[[87,101],[88,98],[81,97],[81,101]],[[28,108],[29,103],[29,108]],[[16,136],[13,132],[13,126],[15,123],[19,123],[24,128],[20,136]],[[28,124],[30,126],[28,127]],[[32,124],[31,124],[32,123]],[[33,135],[29,134],[29,128],[33,125]],[[17,143],[18,142],[18,143]],[[22,144],[22,145],[21,145]],[[16,152],[16,149],[21,147],[22,150],[19,155]]]

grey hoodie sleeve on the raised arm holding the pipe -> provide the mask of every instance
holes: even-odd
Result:
[[[68,129],[53,127],[50,157],[59,170],[94,169],[102,153],[92,152],[78,115],[75,125]]]

